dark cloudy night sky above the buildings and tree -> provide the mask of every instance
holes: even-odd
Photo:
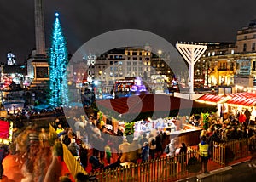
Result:
[[[11,50],[23,62],[35,48],[33,0],[0,1],[0,61]],[[256,18],[255,0],[44,0],[46,47],[55,12],[74,54],[107,31],[141,29],[170,43],[235,42],[236,31]]]

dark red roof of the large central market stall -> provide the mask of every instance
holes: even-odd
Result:
[[[164,94],[142,94],[111,100],[97,100],[100,110],[107,108],[119,114],[134,114],[149,111],[174,111],[191,108],[207,108],[206,104]]]

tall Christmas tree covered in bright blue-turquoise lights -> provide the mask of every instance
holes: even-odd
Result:
[[[59,14],[55,14],[51,48],[49,48],[49,104],[54,106],[68,104],[67,89],[67,47],[62,33]]]

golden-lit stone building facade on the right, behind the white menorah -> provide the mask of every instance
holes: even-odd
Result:
[[[207,51],[195,65],[195,79],[208,87],[235,85],[236,77],[256,78],[256,20],[236,33],[236,43],[205,43]]]

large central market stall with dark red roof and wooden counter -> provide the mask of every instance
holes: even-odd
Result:
[[[214,105],[163,94],[143,94],[115,100],[98,100],[96,105],[104,115],[114,118],[112,119],[113,128],[117,126],[116,121],[139,122],[147,121],[148,117],[152,120],[157,120],[158,118],[177,117],[177,115],[190,116],[191,114],[200,114],[203,111],[216,111],[216,106]],[[194,127],[188,123],[184,124],[187,125],[180,127],[181,125],[176,122],[175,130],[166,131],[168,137],[163,142],[163,147],[174,138],[178,143],[185,142],[187,145],[197,145],[200,142],[201,128]],[[153,129],[158,128],[153,124],[151,128],[148,128],[148,131]]]

